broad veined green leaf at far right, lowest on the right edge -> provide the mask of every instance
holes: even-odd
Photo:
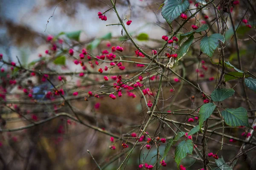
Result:
[[[248,123],[247,111],[245,108],[227,108],[225,111],[221,112],[224,117],[224,121],[229,126],[247,126],[250,127]]]

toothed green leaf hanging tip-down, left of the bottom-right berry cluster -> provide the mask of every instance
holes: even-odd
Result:
[[[185,158],[187,153],[192,154],[192,140],[181,141],[175,148],[175,162],[179,166],[181,159]]]

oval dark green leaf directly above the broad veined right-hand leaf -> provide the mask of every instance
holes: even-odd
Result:
[[[214,102],[221,102],[221,101],[233,96],[233,94],[235,94],[235,91],[233,88],[229,88],[229,89],[217,88],[212,92],[211,97]]]

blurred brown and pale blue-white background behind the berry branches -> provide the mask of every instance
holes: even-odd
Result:
[[[46,42],[48,35],[57,36],[61,32],[79,30],[81,30],[79,36],[80,47],[86,47],[93,40],[111,33],[111,40],[102,41],[99,46],[93,50],[93,53],[98,55],[100,51],[104,49],[111,51],[111,48],[109,48],[107,44],[111,43],[111,46],[121,45],[122,42],[120,42],[120,40],[125,39],[125,33],[123,33],[124,36],[122,36],[121,26],[106,26],[108,24],[119,23],[116,14],[111,10],[106,14],[108,17],[106,22],[99,20],[97,13],[99,11],[104,12],[108,10],[108,6],[103,2],[110,5],[109,0],[67,0],[64,2],[61,0],[0,0],[0,53],[3,54],[3,59],[18,62],[17,56],[21,64],[28,65],[36,61],[39,58],[39,54],[44,56],[45,50],[49,49],[50,45]],[[136,40],[140,46],[148,48],[145,49],[148,54],[151,54],[152,49],[162,47],[164,42],[161,40],[161,37],[170,32],[168,24],[161,16],[161,9],[158,10],[163,2],[163,0],[117,0],[117,10],[119,11],[120,17],[126,17],[132,20],[131,26],[127,27],[131,35],[137,37],[140,33],[148,34],[149,38],[147,41]],[[58,5],[58,3],[60,4]],[[195,8],[194,3],[195,2],[192,0],[190,8]],[[58,7],[56,8],[57,5]],[[248,4],[245,1],[240,1],[239,6],[233,8],[233,20],[235,20],[235,23],[239,23],[244,17],[249,20],[250,24],[253,26],[252,29],[247,29],[245,26],[239,27],[238,36],[243,68],[255,74],[256,43],[248,38],[249,34],[252,37],[256,35],[254,28],[255,14],[253,10],[249,8],[244,16],[247,9]],[[53,11],[54,15],[49,19]],[[191,12],[193,13],[193,10]],[[204,15],[206,14],[209,16],[209,20],[204,19]],[[204,14],[200,13],[197,15],[197,18],[200,24],[207,23],[210,26],[214,23],[214,10],[210,9],[204,12]],[[48,19],[49,23],[47,24]],[[177,21],[181,21],[180,18],[177,19]],[[186,24],[182,32],[191,30],[193,22],[195,22],[195,19],[192,19],[191,23]],[[231,28],[230,21],[228,21],[227,24]],[[210,33],[217,31],[215,25],[216,24],[212,25]],[[179,25],[174,23],[173,27],[177,28]],[[226,43],[229,42],[229,45],[225,48],[225,55],[228,61],[237,66],[238,61],[236,59],[235,42],[233,39],[231,40],[233,36],[232,31],[232,29],[229,29],[225,34]],[[75,42],[72,43],[75,44]],[[123,47],[124,56],[136,56],[134,54],[136,48],[133,47],[131,42],[125,41]],[[215,80],[217,75],[219,75],[218,65],[214,64],[214,62],[218,62],[218,52],[216,51],[215,56],[212,57],[212,61],[204,55],[202,55],[201,59],[198,58],[199,54],[199,43],[196,42],[186,54],[186,58],[184,57],[183,65],[176,66],[174,69],[180,75],[184,75],[186,79],[192,82],[198,82],[200,88],[210,94],[215,88]],[[207,69],[202,68],[200,65],[201,72],[199,74],[203,74],[203,76],[198,77],[199,74],[196,73],[196,69],[202,62],[202,59]],[[135,60],[131,59],[131,61]],[[136,61],[149,63],[145,61],[145,59],[136,59]],[[49,68],[64,72],[78,71],[79,68],[76,67],[76,65],[72,65],[72,63],[73,61],[69,60],[63,67],[50,65]],[[128,71],[138,69],[136,65],[132,64],[125,66],[127,66]],[[6,66],[4,65],[3,67]],[[98,67],[96,68],[98,69]],[[90,68],[88,69],[90,70]],[[91,69],[91,71],[97,71],[97,69]],[[184,69],[186,74],[184,73]],[[230,71],[233,70],[230,69]],[[129,75],[124,74],[122,77],[131,77],[133,75],[132,73]],[[172,86],[165,81],[163,83],[161,97],[167,99],[173,94],[174,96],[167,102],[159,102],[158,111],[196,109],[204,103],[201,94],[196,92],[191,86],[186,83],[175,82],[173,79],[177,77],[171,73],[166,75],[170,78],[170,82],[175,91],[179,92],[177,94],[172,93],[172,91],[170,92]],[[210,81],[210,77],[214,77],[215,79]],[[86,81],[80,81],[78,77],[73,77],[72,75],[67,76],[67,81],[69,82],[67,91],[71,89],[69,91],[71,96],[74,87],[79,88],[82,93],[84,91],[87,93],[88,89],[95,93],[102,91],[99,87],[105,85],[105,83],[95,80],[96,78],[100,79],[100,77],[90,75],[89,78],[90,79],[86,79]],[[56,79],[56,77],[52,77],[52,79]],[[95,81],[92,81],[92,79]],[[27,77],[24,79],[24,82],[21,83],[27,84],[29,80],[35,85],[41,85],[42,83],[40,79],[33,77]],[[53,82],[55,82],[55,80],[53,80]],[[146,88],[151,88],[151,91],[156,92],[158,82],[159,77],[158,79],[156,77],[151,81],[151,87],[149,87],[148,82],[145,82],[144,85]],[[240,106],[247,108],[243,98],[244,92],[239,80],[226,82],[226,84],[223,84],[223,87],[234,88],[236,91],[235,96],[223,102],[223,105],[229,108],[238,108]],[[26,113],[27,116],[36,114],[40,120],[43,120],[49,118],[49,115],[54,115],[53,113],[72,113],[67,105],[62,105],[62,102],[58,102],[58,100],[55,104],[44,103],[36,105],[32,103],[27,96],[23,96],[23,92],[19,91],[18,87],[12,88],[12,91],[9,93],[9,97],[7,98],[9,107],[16,107],[16,110],[20,110],[24,114]],[[122,98],[114,102],[108,96],[106,97],[107,99],[100,97],[99,99],[88,99],[89,101],[85,101],[85,95],[81,95],[76,97],[76,99],[70,100],[70,102],[75,108],[75,112],[88,124],[107,130],[117,136],[131,136],[131,133],[139,133],[140,125],[147,115],[147,110],[145,110],[146,104],[140,92],[136,91],[134,94],[137,95],[134,99],[128,95],[123,95]],[[251,105],[255,108],[255,93],[248,91],[248,95]],[[149,96],[147,96],[147,100],[153,101]],[[21,120],[17,113],[8,110],[8,114],[6,114],[7,112],[3,107],[0,109],[0,113],[7,121],[3,129],[18,128],[28,125],[28,122]],[[187,111],[180,112],[188,113]],[[195,112],[195,115],[198,115],[198,112]],[[254,115],[249,113],[249,116],[249,122],[251,123]],[[188,119],[187,116],[182,115],[169,115],[168,117],[178,122],[186,122]],[[212,115],[212,119],[218,118],[218,113]],[[210,120],[208,123],[214,124],[215,122],[216,120]],[[195,121],[192,124],[196,125],[197,122]],[[171,138],[174,136],[174,133],[169,130],[169,128],[164,127],[164,125],[162,126],[163,127],[160,127],[160,122],[154,119],[148,128],[148,133],[154,136],[158,128],[163,128],[161,138]],[[182,125],[179,125],[179,127],[183,128],[186,132],[189,132],[191,129],[191,127],[183,127]],[[221,127],[222,125],[218,125],[214,128],[217,128],[216,132],[222,132]],[[176,127],[173,128],[177,130]],[[241,136],[241,133],[244,131],[245,129],[243,128],[230,128],[225,129],[225,134],[244,139],[245,137]],[[217,152],[221,147],[221,136],[209,134],[208,137],[208,147],[211,148],[211,152]],[[201,136],[193,136],[193,139],[195,142],[201,143]],[[96,164],[87,153],[87,150],[90,150],[90,153],[96,159],[97,163],[100,164],[102,169],[116,170],[123,159],[125,159],[128,151],[128,148],[122,148],[122,140],[116,141],[114,144],[116,150],[110,149],[113,143],[110,142],[109,135],[81,125],[65,116],[28,129],[1,133],[0,141],[0,162],[2,163],[0,163],[0,167],[9,170],[96,170]],[[255,139],[253,138],[252,141],[255,141]],[[134,142],[133,139],[131,139],[131,142]],[[125,169],[138,169],[138,165],[142,163],[141,160],[143,160],[144,157],[146,157],[145,162],[152,163],[156,161],[156,147],[151,146],[151,150],[147,150],[145,147],[143,148],[145,143],[146,139],[143,144],[136,147]],[[239,141],[230,143],[230,139],[225,138],[224,147],[218,154],[219,156],[223,156],[225,161],[228,161],[236,155],[241,144],[242,142]],[[132,147],[132,144],[128,145],[129,148]],[[159,152],[163,153],[164,148],[165,144],[162,144],[162,146],[159,147]],[[163,170],[177,170],[177,165],[174,161],[174,148],[175,147],[173,147],[167,156],[167,167],[161,167]],[[241,156],[233,169],[256,169],[255,153],[256,152],[253,150],[246,156]],[[187,167],[187,170],[197,170],[203,167],[201,160],[197,160],[195,157],[195,155],[192,155],[183,159],[182,164]],[[214,160],[212,159],[210,161]]]

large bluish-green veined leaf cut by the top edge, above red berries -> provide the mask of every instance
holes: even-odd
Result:
[[[171,24],[172,21],[177,19],[180,14],[189,8],[189,2],[187,0],[165,0],[162,9],[163,18],[167,23]]]

